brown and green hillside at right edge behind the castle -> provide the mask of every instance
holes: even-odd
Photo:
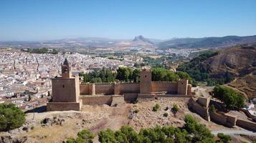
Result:
[[[240,89],[248,97],[256,97],[256,45],[234,46],[218,53],[203,54],[180,65],[178,70],[209,85],[231,82],[229,86]]]

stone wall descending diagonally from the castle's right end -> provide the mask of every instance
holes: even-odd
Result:
[[[206,107],[202,107],[199,103],[195,102],[194,99],[189,99],[188,107],[202,118],[209,121],[208,109]]]

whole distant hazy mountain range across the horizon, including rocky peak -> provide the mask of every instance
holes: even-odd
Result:
[[[135,36],[134,39],[107,39],[98,37],[59,39],[51,41],[0,41],[0,47],[14,48],[90,48],[90,47],[119,47],[119,46],[154,46],[160,49],[169,48],[220,48],[237,44],[256,43],[255,36],[223,36],[205,38],[180,38],[170,40],[147,39],[143,36]]]

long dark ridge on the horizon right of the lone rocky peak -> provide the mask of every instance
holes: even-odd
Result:
[[[161,49],[168,48],[220,48],[237,44],[256,43],[255,36],[223,36],[205,38],[181,38],[162,41],[157,44]]]

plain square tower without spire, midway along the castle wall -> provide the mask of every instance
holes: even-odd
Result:
[[[151,69],[141,69],[140,74],[140,94],[151,94]]]

